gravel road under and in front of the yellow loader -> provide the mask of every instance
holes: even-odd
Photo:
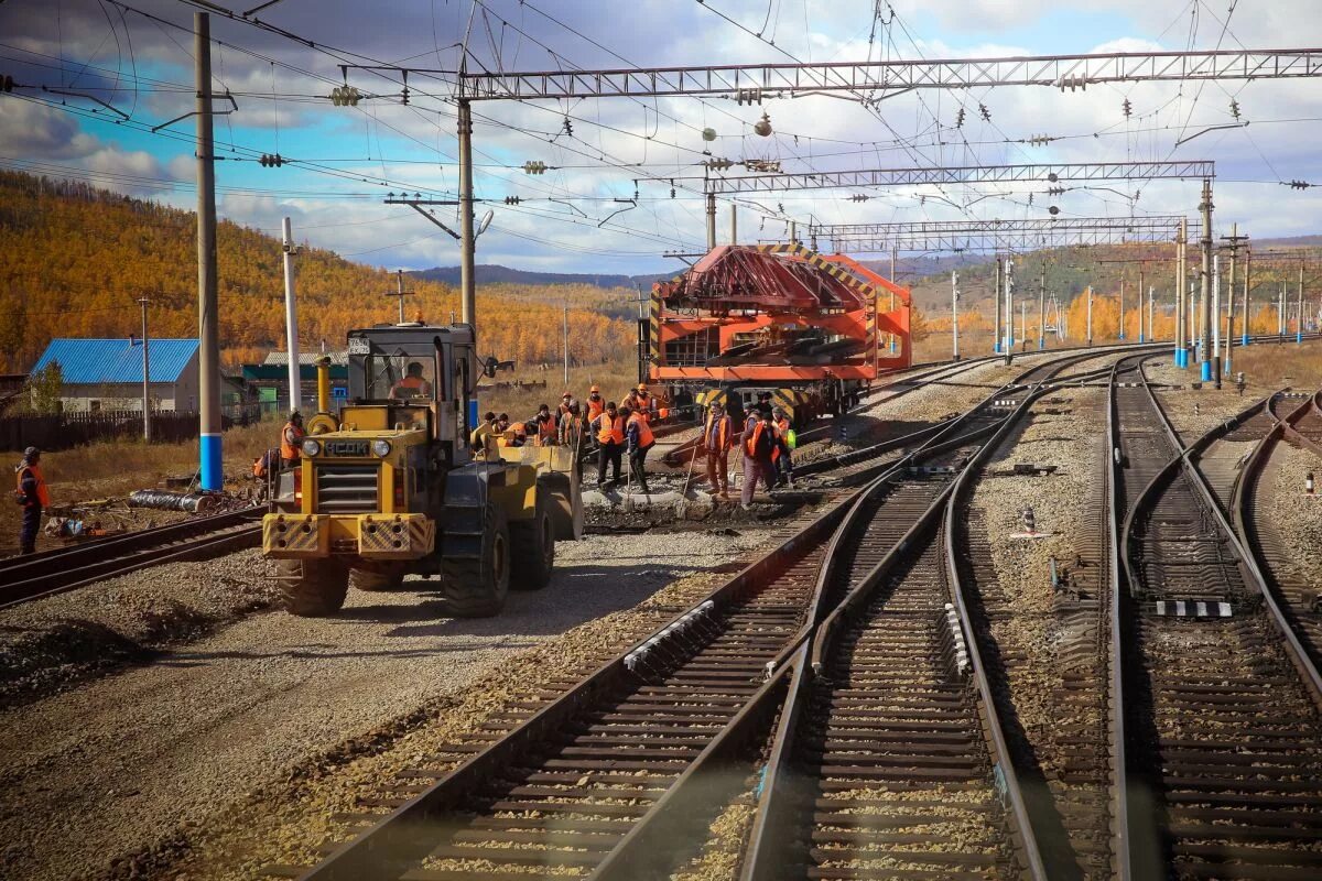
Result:
[[[551,585],[512,594],[497,618],[439,618],[422,581],[350,592],[340,617],[250,616],[151,664],[0,712],[0,836],[11,843],[0,876],[175,878],[184,870],[173,863],[193,855],[205,868],[189,878],[251,877],[300,856],[288,843],[307,856],[327,833],[327,803],[352,807],[364,779],[452,734],[447,719],[463,729],[502,689],[526,691],[642,635],[673,610],[625,610],[677,579],[687,586],[665,602],[695,598],[722,577],[711,568],[765,535],[588,536],[561,544]],[[218,564],[190,565],[196,576]]]

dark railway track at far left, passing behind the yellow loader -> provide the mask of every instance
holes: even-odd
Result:
[[[0,560],[0,609],[160,563],[256,547],[259,515],[256,509],[226,511]]]

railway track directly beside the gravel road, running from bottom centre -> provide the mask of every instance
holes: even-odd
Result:
[[[393,814],[360,816],[374,826],[301,877],[661,872],[658,855],[701,839],[717,791],[751,770],[817,623],[851,580],[894,564],[916,516],[940,514],[958,469],[1013,409],[993,395],[863,490],[837,491],[825,514],[654,637],[414,769]],[[419,794],[419,779],[435,782]]]

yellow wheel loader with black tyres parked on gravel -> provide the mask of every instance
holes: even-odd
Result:
[[[278,478],[262,549],[279,561],[286,608],[329,616],[350,586],[439,576],[449,614],[486,617],[509,590],[546,586],[557,539],[583,532],[574,450],[475,450],[471,402],[493,374],[469,325],[382,325],[349,333],[349,402],[319,409],[300,464]]]

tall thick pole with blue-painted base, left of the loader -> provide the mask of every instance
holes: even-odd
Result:
[[[225,489],[221,468],[221,345],[215,273],[215,156],[212,139],[212,18],[193,13],[197,83],[197,409],[204,491]]]

